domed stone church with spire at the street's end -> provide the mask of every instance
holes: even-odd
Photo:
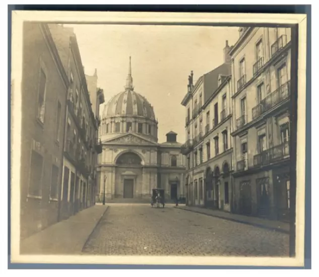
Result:
[[[165,189],[165,200],[184,197],[185,159],[177,134],[158,143],[153,106],[133,87],[131,57],[124,91],[115,95],[101,116],[97,201],[149,202],[153,188]]]

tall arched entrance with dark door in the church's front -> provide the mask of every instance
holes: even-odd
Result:
[[[115,165],[115,198],[137,198],[142,191],[142,159],[134,152],[126,152]]]

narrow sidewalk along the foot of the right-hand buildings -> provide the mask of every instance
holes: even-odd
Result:
[[[230,220],[238,223],[243,223],[247,225],[252,225],[256,227],[261,227],[265,229],[270,229],[273,231],[278,231],[282,233],[289,234],[290,226],[289,223],[273,221],[267,219],[261,219],[256,217],[248,217],[242,215],[231,214],[223,211],[205,209],[204,207],[194,207],[194,206],[175,206],[176,209],[181,209],[189,212],[194,212],[198,214],[203,214],[215,218]]]

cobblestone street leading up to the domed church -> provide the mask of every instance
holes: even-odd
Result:
[[[289,236],[149,204],[111,204],[83,249],[98,255],[284,256]]]

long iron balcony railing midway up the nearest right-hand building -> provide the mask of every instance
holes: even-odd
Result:
[[[290,96],[290,81],[280,86],[277,90],[266,96],[257,106],[253,107],[252,119],[258,118],[264,112],[288,99]]]

